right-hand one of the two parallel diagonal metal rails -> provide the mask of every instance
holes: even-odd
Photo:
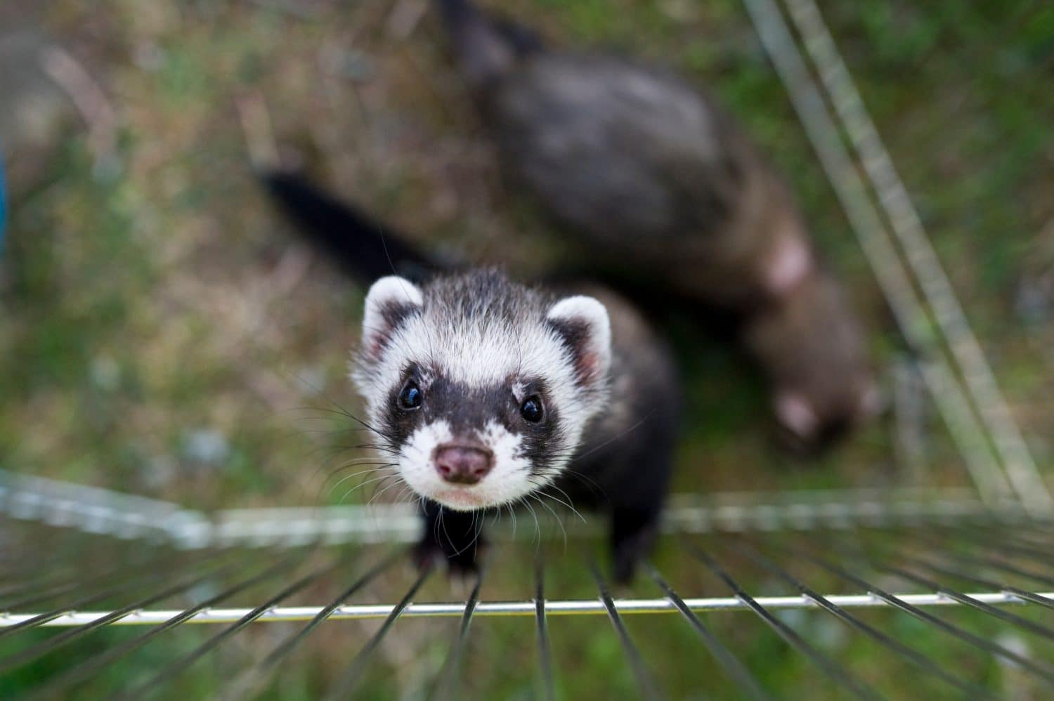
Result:
[[[893,231],[906,253],[922,294],[934,312],[953,358],[962,371],[974,408],[991,431],[995,449],[1021,502],[1036,513],[1054,512],[1054,496],[1043,482],[1020,428],[1011,416],[992,368],[970,328],[962,305],[926,237],[922,220],[897,174],[875,122],[867,114],[815,0],[786,0],[805,51],[819,67],[820,81],[860,155]],[[883,230],[884,231],[884,230]]]

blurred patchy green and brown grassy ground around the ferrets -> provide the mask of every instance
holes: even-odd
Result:
[[[1048,465],[1054,9],[1027,0],[821,5],[1014,414]],[[853,288],[883,372],[902,357],[739,2],[502,6],[557,40],[624,48],[711,87],[788,175]],[[40,162],[32,180],[11,183],[0,261],[5,467],[202,509],[343,499],[345,490],[327,493],[325,478],[348,456],[334,455],[349,442],[347,426],[327,412],[355,406],[345,372],[362,291],[296,244],[260,198],[239,104],[262,100],[287,162],[430,245],[524,273],[560,258],[559,237],[499,176],[419,0],[55,0],[38,13],[102,87],[115,121],[91,124],[91,135],[72,123],[46,157],[14,154]],[[690,403],[680,490],[965,483],[932,415],[926,475],[900,463],[884,424],[816,464],[789,460],[768,445],[749,369],[687,322],[672,334]],[[500,586],[488,596],[505,595]],[[592,641],[590,624],[553,631],[582,657],[573,666],[583,678],[566,680],[569,693],[621,663],[617,647],[604,647],[614,639]],[[507,631],[509,645],[524,632],[514,622],[486,625],[494,626],[488,640]],[[666,635],[658,622],[642,625],[650,629]],[[770,655],[782,659],[769,647],[752,659]],[[683,674],[681,662],[669,658],[668,674]],[[774,680],[801,674],[787,664],[768,664]],[[503,683],[484,675],[477,688],[486,680]],[[378,688],[414,687],[389,677]]]

